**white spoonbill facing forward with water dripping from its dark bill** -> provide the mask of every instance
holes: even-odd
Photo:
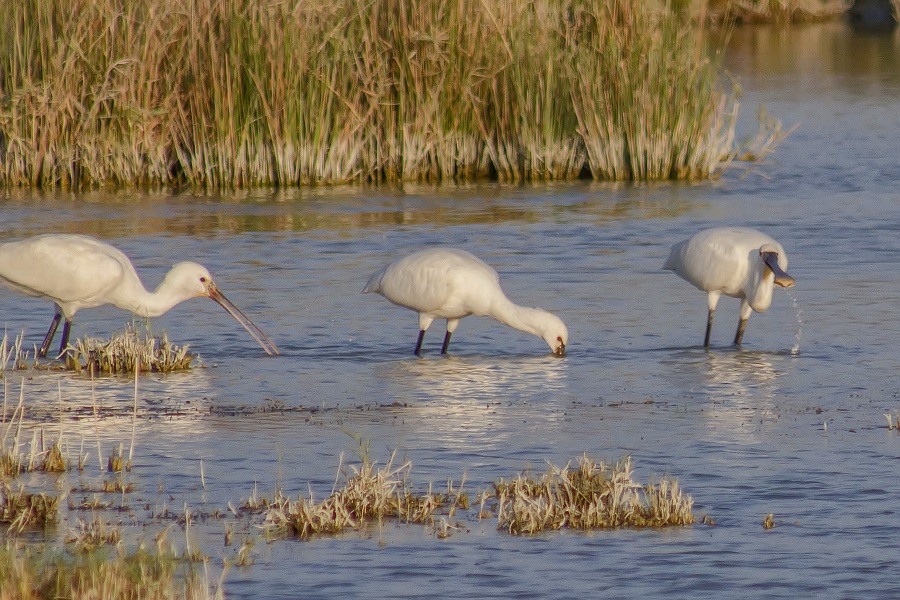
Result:
[[[685,281],[707,293],[709,316],[706,338],[709,347],[713,315],[722,294],[740,298],[741,319],[734,343],[740,344],[751,311],[765,312],[772,304],[776,285],[791,287],[786,273],[787,254],[781,244],[747,227],[704,229],[672,246],[663,269],[675,271]]]

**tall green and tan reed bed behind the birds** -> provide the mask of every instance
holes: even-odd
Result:
[[[643,0],[22,0],[0,185],[716,177],[761,149],[705,39]]]

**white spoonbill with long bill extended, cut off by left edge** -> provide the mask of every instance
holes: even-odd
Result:
[[[0,244],[0,283],[28,296],[52,300],[56,314],[38,356],[46,356],[65,317],[62,355],[72,318],[82,308],[114,304],[140,317],[158,317],[176,304],[206,296],[218,302],[262,346],[278,354],[269,338],[219,291],[212,275],[195,262],[180,262],[155,292],[144,289],[134,265],[117,248],[86,235],[47,234]]]

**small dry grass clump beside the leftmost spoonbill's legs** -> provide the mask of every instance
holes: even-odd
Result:
[[[188,346],[177,346],[163,333],[154,337],[149,330],[141,335],[132,325],[126,325],[122,333],[109,340],[98,338],[79,339],[75,351],[66,361],[72,370],[84,370],[92,374],[124,374],[140,372],[168,373],[191,368],[194,356],[188,354]]]

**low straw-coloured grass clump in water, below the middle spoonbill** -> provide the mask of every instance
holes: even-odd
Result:
[[[427,523],[439,509],[452,511],[458,504],[468,506],[468,498],[460,491],[448,489],[445,494],[412,493],[407,476],[412,463],[393,466],[394,456],[381,468],[364,459],[359,467],[345,472],[344,486],[322,502],[309,498],[289,500],[280,493],[269,506],[264,528],[270,534],[296,535],[309,538],[316,533],[338,533],[358,528],[364,522],[395,518],[407,523]]]

